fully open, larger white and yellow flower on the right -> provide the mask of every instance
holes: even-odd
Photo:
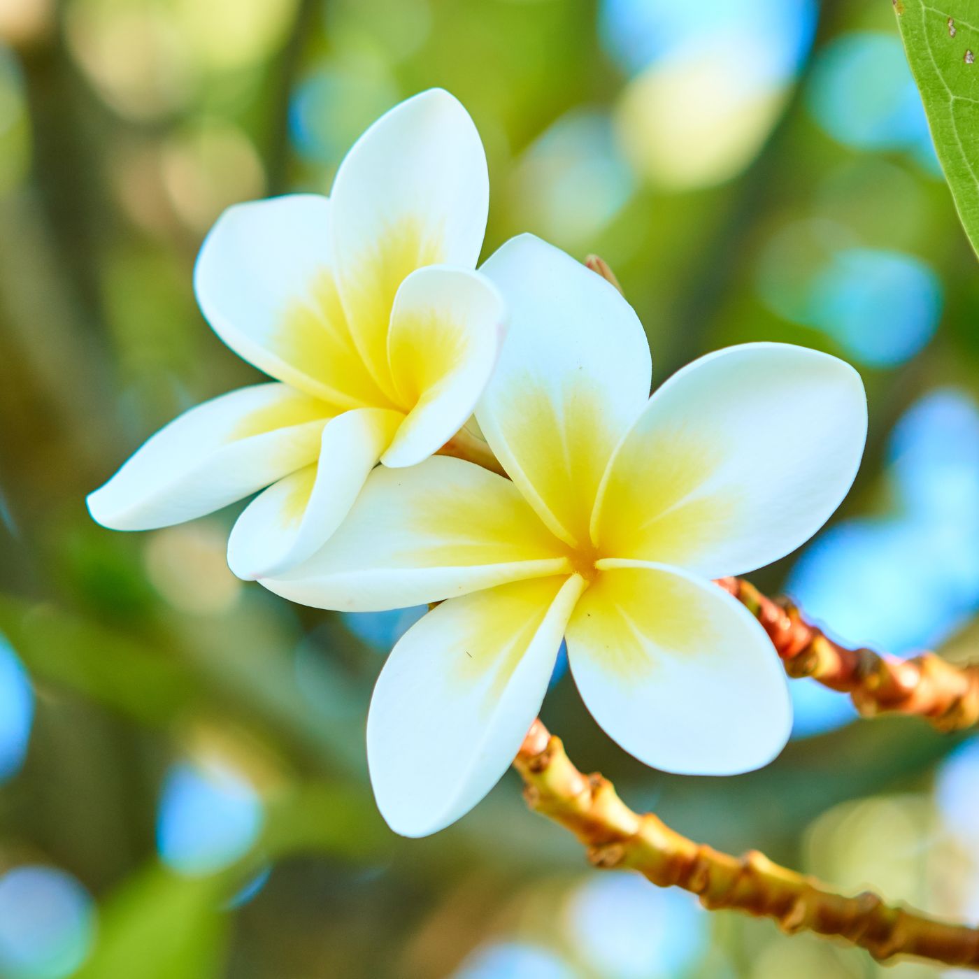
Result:
[[[562,636],[595,720],[659,769],[727,774],[788,737],[784,673],[712,583],[798,547],[860,464],[866,401],[835,357],[719,350],[649,397],[629,304],[531,236],[484,266],[510,331],[476,410],[510,480],[458,458],[377,469],[338,533],[263,583],[371,611],[445,599],[396,644],[367,722],[396,831],[462,816],[515,755]]]

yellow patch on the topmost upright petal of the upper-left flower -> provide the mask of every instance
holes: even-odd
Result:
[[[423,265],[445,260],[441,226],[405,215],[389,225],[374,245],[352,263],[343,283],[350,333],[376,384],[392,400],[396,387],[388,363],[388,328],[397,287]],[[403,406],[403,405],[399,405]]]

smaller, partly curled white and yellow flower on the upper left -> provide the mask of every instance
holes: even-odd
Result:
[[[434,89],[357,140],[329,200],[225,211],[198,258],[198,301],[276,381],[171,422],[88,497],[92,516],[149,530],[268,487],[235,525],[232,570],[258,578],[312,554],[379,460],[411,466],[438,451],[482,394],[504,317],[474,270],[488,203],[476,127]]]

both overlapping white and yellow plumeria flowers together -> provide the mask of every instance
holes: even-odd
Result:
[[[562,638],[588,710],[644,763],[768,763],[784,673],[711,580],[816,533],[866,434],[857,372],[789,345],[720,350],[649,396],[642,326],[603,278],[531,235],[475,270],[487,208],[476,129],[435,90],[368,129],[329,201],[227,211],[198,298],[276,380],[181,415],[89,497],[137,530],[267,487],[231,534],[237,574],[326,609],[441,603],[367,720],[379,807],[409,836],[508,767]],[[435,454],[474,413],[506,477]]]

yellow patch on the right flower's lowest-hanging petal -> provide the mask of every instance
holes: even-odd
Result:
[[[560,576],[502,584],[470,599],[471,616],[453,650],[449,678],[461,687],[482,685],[479,711],[483,717],[489,717],[499,703],[567,580]]]

